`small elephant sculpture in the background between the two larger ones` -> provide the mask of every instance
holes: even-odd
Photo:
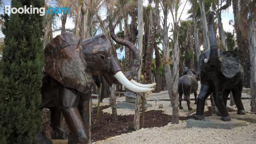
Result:
[[[194,69],[184,69],[182,76],[179,78],[178,83],[178,92],[179,92],[179,108],[183,109],[181,106],[182,95],[184,94],[184,100],[187,102],[187,109],[192,110],[190,107],[190,94],[194,93],[195,95],[195,104],[197,102],[197,74]]]

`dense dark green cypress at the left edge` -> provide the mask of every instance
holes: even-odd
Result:
[[[12,0],[12,7],[44,7],[44,0]],[[40,133],[43,16],[10,14],[0,63],[0,143],[36,143]]]

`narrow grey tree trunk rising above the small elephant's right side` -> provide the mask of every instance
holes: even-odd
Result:
[[[194,7],[194,6],[193,6]],[[197,12],[193,12],[193,21],[194,21],[194,40],[195,40],[195,49],[197,54],[197,60],[200,57],[201,50],[199,45],[199,38],[198,38],[198,28],[197,28]]]

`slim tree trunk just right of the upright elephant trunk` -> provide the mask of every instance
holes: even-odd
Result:
[[[219,12],[218,10],[216,11],[216,15],[218,18],[218,29],[219,29],[219,36],[221,39],[221,51],[227,51],[227,44],[226,44],[226,36],[225,36],[225,32],[223,29],[223,25],[221,22],[221,12]]]

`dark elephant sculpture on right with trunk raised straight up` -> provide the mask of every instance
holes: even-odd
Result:
[[[197,111],[195,119],[204,119],[204,103],[209,94],[213,92],[215,104],[221,114],[222,121],[230,121],[226,110],[227,97],[233,93],[238,114],[245,114],[241,100],[243,88],[243,68],[238,57],[230,52],[220,53],[214,34],[213,13],[209,13],[210,50],[201,54],[198,67],[200,73],[201,89],[197,98]]]

